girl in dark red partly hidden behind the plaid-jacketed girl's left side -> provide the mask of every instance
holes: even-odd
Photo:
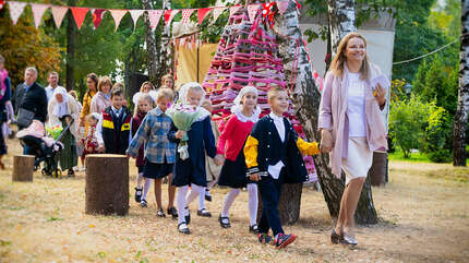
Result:
[[[140,125],[143,122],[143,119],[145,118],[146,113],[153,109],[153,99],[152,97],[147,94],[147,93],[141,93],[139,94],[139,96],[134,96],[135,103],[136,103],[136,110],[135,113],[132,118],[132,138],[135,136],[136,131],[139,130]],[[146,201],[142,202],[142,191],[143,191],[143,167],[145,165],[145,157],[144,157],[144,151],[143,151],[143,145],[140,147],[139,150],[139,154],[135,158],[135,165],[136,168],[139,170],[139,174],[136,175],[136,187],[135,187],[135,202],[143,204],[146,207]],[[146,181],[145,181],[146,182]],[[148,182],[151,183],[152,181],[148,180]],[[144,198],[143,200],[145,200],[146,198],[146,193],[149,190],[149,183],[148,186],[145,184],[145,190],[146,192],[144,192]],[[142,202],[142,203],[141,203]]]

